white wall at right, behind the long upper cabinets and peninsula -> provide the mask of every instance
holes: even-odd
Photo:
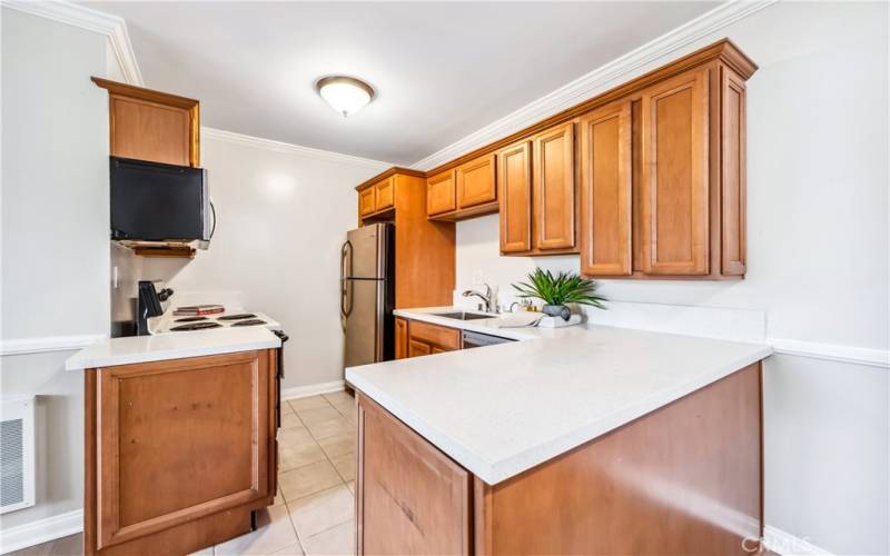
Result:
[[[722,37],[760,66],[748,82],[748,276],[601,291],[759,309],[771,338],[887,350],[888,4],[773,4],[639,72]],[[496,216],[457,225],[458,290],[483,279],[508,294],[535,265],[578,269],[577,257],[500,257],[497,237]],[[886,367],[768,361],[768,525],[837,554],[890,552],[888,388]]]

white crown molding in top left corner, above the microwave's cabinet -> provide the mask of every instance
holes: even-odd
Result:
[[[31,16],[105,34],[118,63],[120,63],[120,69],[127,82],[137,87],[145,86],[139,64],[136,62],[136,53],[132,50],[130,34],[127,32],[127,22],[122,18],[93,10],[82,4],[59,0],[39,2],[2,0],[2,6],[23,13],[30,13]]]

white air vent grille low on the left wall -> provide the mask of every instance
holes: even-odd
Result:
[[[34,398],[3,399],[0,514],[34,505]]]

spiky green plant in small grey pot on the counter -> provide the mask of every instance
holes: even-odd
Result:
[[[544,315],[562,317],[568,320],[572,311],[566,304],[589,305],[605,309],[602,301],[606,299],[596,295],[596,282],[582,278],[576,272],[557,272],[536,268],[528,275],[528,281],[514,284],[513,287],[522,298],[535,298],[544,301]]]

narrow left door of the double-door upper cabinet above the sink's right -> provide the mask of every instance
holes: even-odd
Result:
[[[501,252],[532,249],[532,148],[522,141],[497,153]]]

